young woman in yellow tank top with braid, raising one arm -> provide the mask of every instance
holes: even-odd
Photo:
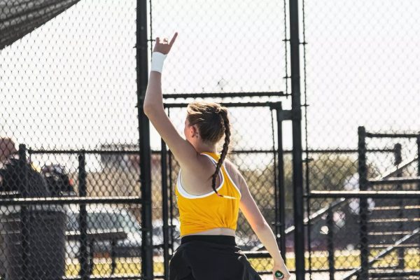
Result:
[[[273,277],[290,274],[274,234],[261,215],[246,182],[226,159],[230,141],[228,110],[211,102],[188,105],[184,134],[176,131],[162,102],[163,62],[176,40],[156,38],[144,113],[179,162],[176,199],[181,221],[181,246],[169,265],[169,279],[261,279],[235,244],[239,209],[274,260]],[[217,144],[225,138],[223,151]],[[281,272],[281,273],[279,273]]]

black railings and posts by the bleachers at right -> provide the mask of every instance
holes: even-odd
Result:
[[[417,144],[417,170],[418,175],[416,177],[410,178],[401,178],[402,173],[400,172],[400,168],[398,166],[402,164],[401,160],[401,146],[400,144],[396,144],[395,147],[391,150],[388,149],[374,149],[368,150],[366,148],[366,138],[415,138]],[[360,267],[356,267],[354,269],[344,269],[344,270],[351,270],[349,274],[344,276],[343,280],[349,280],[353,276],[358,276],[358,279],[367,279],[369,277],[369,267],[374,262],[377,261],[377,258],[374,260],[368,260],[369,256],[369,248],[367,246],[367,198],[387,198],[387,199],[402,199],[402,198],[419,198],[420,199],[420,134],[404,134],[404,133],[371,133],[366,132],[365,127],[358,127],[358,174],[359,174],[359,188],[360,190],[353,190],[353,191],[328,191],[328,190],[312,190],[310,193],[305,195],[307,200],[317,199],[317,198],[339,198],[340,200],[333,202],[330,204],[329,207],[323,209],[320,214],[327,213],[327,225],[328,225],[328,271],[330,274],[330,279],[335,279],[334,275],[335,272],[338,271],[334,267],[334,245],[332,244],[332,211],[336,207],[341,206],[342,204],[346,203],[346,199],[349,198],[358,198],[360,199],[360,212],[359,212],[359,235],[360,235]],[[392,172],[390,172],[387,176],[384,176],[382,179],[367,179],[367,163],[366,163],[366,153],[367,152],[393,152],[395,155],[395,165],[396,168]],[[405,165],[402,165],[404,167]],[[395,175],[395,177],[391,177]],[[372,191],[368,190],[369,186],[375,184],[400,184],[403,183],[418,183],[417,188],[418,190],[394,190],[394,191]],[[420,200],[419,200],[420,202]],[[316,217],[318,218],[319,215],[317,214]],[[313,219],[313,218],[312,218]],[[310,221],[310,220],[309,220]],[[309,223],[310,224],[310,223]],[[417,230],[414,230],[411,235],[407,235],[402,239],[398,240],[398,242],[407,241],[407,239],[412,239],[414,237],[420,237],[420,227]],[[386,250],[381,251],[379,253],[379,258],[391,253],[391,251],[397,250],[398,255],[402,255],[403,252],[399,248],[386,248]],[[411,276],[411,275],[420,275],[420,272],[406,272],[403,269],[403,258],[400,262],[398,267],[400,269],[395,270],[394,272],[387,272],[388,276]],[[320,270],[311,270],[311,272],[321,272]],[[379,273],[379,272],[377,272]],[[361,278],[360,278],[361,277]]]

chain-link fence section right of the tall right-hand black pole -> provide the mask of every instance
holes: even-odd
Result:
[[[419,279],[419,2],[302,3],[307,145],[328,150],[307,163],[309,192],[325,191],[307,204],[308,268]]]

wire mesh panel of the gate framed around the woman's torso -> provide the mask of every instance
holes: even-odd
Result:
[[[282,128],[281,121],[279,122],[276,119],[276,112],[281,111],[281,108],[279,108],[279,102],[274,101],[275,99],[278,99],[278,97],[268,98],[266,102],[223,102],[223,104],[230,111],[232,135],[234,135],[228,160],[233,162],[243,174],[262,214],[267,219],[267,222],[272,225],[274,232],[280,237],[280,232],[286,230],[284,227],[290,227],[293,224],[293,212],[290,192],[291,166],[289,162],[282,164],[279,161],[281,153],[287,153],[287,151],[282,151],[277,140],[278,132]],[[175,120],[174,124],[178,130],[182,130],[184,125],[183,118],[186,116],[186,104],[167,103],[166,106],[168,107],[169,116]],[[260,120],[258,126],[253,127],[253,133],[249,134],[249,127],[244,125],[255,120]],[[287,155],[284,158],[286,157]],[[172,221],[174,226],[179,225],[179,221],[176,218],[179,216],[179,212],[176,207],[174,192],[172,191],[178,174],[179,165],[173,156],[169,154],[166,175],[169,177],[167,180],[169,190],[169,212],[167,217],[169,218],[169,223]],[[156,176],[154,181],[160,181],[161,174],[156,174]],[[279,181],[286,181],[286,186],[288,187],[286,195],[283,195],[283,192],[279,192]],[[165,186],[165,183],[162,183],[162,186]],[[284,186],[284,183],[281,183],[281,186]],[[162,197],[161,190],[160,188],[155,188],[154,190],[153,201],[159,203],[162,201],[160,200],[160,197]],[[283,203],[279,204],[280,201],[288,202],[286,208],[284,208]],[[154,205],[158,207],[156,209],[158,212],[154,213],[154,215],[165,217],[165,210],[161,214],[162,209],[159,208],[162,204]],[[282,215],[283,218],[281,218]],[[175,232],[174,235],[176,237],[176,235],[179,235],[179,232]],[[279,238],[279,244],[280,242]],[[259,252],[263,249],[263,246],[242,214],[240,214],[237,223],[237,245],[242,250],[248,251],[248,258],[258,271],[267,274],[271,273],[271,260],[268,258],[267,253]],[[286,251],[293,253],[293,240],[290,239],[290,236],[283,241],[283,251],[284,253]]]

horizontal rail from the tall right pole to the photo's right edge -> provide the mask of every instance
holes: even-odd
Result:
[[[309,198],[420,198],[420,190],[312,190]]]

